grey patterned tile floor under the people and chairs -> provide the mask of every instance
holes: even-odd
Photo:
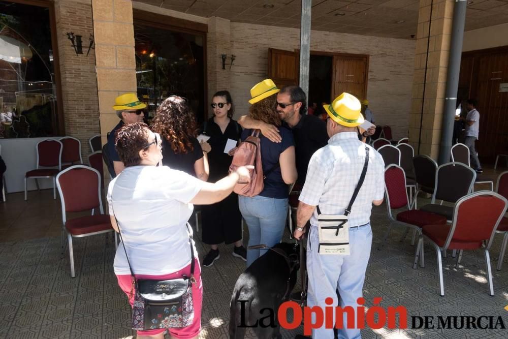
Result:
[[[51,191],[10,194],[0,204],[0,338],[123,338],[131,337],[130,310],[117,286],[112,261],[114,242],[101,235],[77,239],[76,278],[70,276],[69,256],[60,258],[58,200]],[[409,237],[399,242],[400,229],[381,251],[377,245],[386,227],[386,206],[373,209],[374,243],[366,275],[367,306],[383,297],[382,306],[404,305],[409,316],[501,316],[508,326],[508,259],[495,270],[501,236],[491,250],[495,296],[488,295],[484,256],[481,251],[443,258],[445,297],[438,295],[436,258],[426,246],[426,267],[411,268],[414,247]],[[248,232],[245,230],[245,236]],[[201,259],[208,250],[199,241]],[[284,235],[287,239],[287,234]],[[229,300],[244,262],[231,255],[231,246],[220,246],[215,265],[203,268],[203,331],[200,338],[228,338]],[[437,320],[435,320],[437,321]],[[409,320],[409,326],[411,326]],[[282,331],[293,338],[302,328]],[[485,329],[362,330],[363,338],[506,338],[507,331]],[[247,337],[256,336],[248,332]],[[321,338],[320,338],[321,339]]]

